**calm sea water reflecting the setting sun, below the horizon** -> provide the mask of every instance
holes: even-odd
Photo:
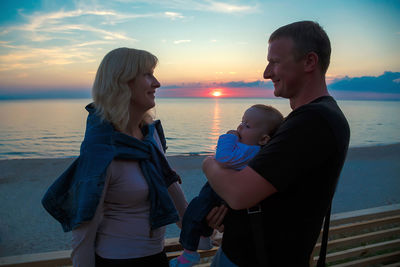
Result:
[[[79,154],[90,99],[0,101],[0,159],[59,158]],[[156,118],[168,154],[214,151],[218,136],[236,128],[255,103],[290,112],[283,99],[160,98]],[[400,142],[400,102],[338,101],[351,127],[350,146]]]

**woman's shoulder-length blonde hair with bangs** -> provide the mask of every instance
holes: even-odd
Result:
[[[133,48],[117,48],[105,55],[92,87],[97,114],[111,122],[117,130],[125,131],[132,97],[128,83],[138,74],[154,69],[157,63],[156,56]],[[147,111],[141,124],[151,123],[153,119],[152,113]]]

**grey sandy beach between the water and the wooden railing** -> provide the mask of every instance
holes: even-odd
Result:
[[[168,157],[183,179],[188,200],[206,181],[203,159],[198,155]],[[70,249],[71,234],[62,231],[40,201],[73,160],[0,160],[0,257]],[[400,144],[349,149],[333,213],[394,203],[400,203]],[[169,233],[176,229],[172,227]]]

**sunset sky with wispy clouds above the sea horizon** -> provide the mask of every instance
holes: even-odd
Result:
[[[269,35],[313,20],[331,39],[337,95],[400,99],[398,0],[1,0],[0,12],[0,98],[90,96],[118,47],[158,57],[159,96],[269,96]]]

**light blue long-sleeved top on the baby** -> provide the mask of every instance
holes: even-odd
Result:
[[[240,143],[237,132],[231,130],[219,137],[215,159],[225,167],[242,169],[259,150],[259,146]]]

